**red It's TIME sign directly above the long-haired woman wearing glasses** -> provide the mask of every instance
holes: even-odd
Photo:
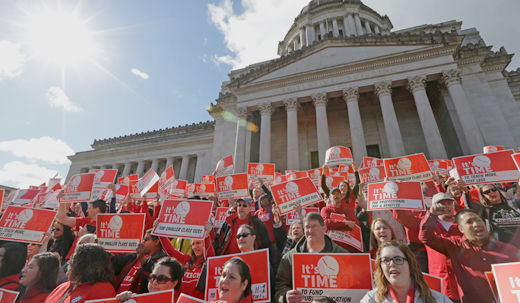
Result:
[[[379,182],[368,184],[368,211],[401,209],[423,211],[420,182]]]

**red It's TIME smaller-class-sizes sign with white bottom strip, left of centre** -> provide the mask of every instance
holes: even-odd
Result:
[[[212,208],[213,202],[207,200],[165,200],[159,213],[159,224],[152,234],[202,240]]]

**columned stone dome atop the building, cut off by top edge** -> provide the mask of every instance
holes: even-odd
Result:
[[[360,0],[311,0],[279,42],[278,55],[287,55],[327,37],[384,35],[392,28],[388,16],[381,16]]]

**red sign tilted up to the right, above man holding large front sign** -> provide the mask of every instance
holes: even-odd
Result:
[[[304,207],[322,200],[316,186],[309,178],[271,185],[271,192],[282,215],[295,210],[298,205]]]

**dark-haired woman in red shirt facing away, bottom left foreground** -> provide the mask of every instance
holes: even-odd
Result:
[[[49,294],[45,303],[84,303],[116,296],[108,253],[98,244],[79,245],[69,261],[68,282]]]

